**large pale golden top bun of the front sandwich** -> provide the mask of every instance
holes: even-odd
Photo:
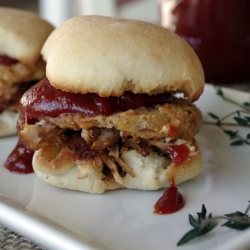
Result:
[[[68,92],[183,92],[193,102],[204,88],[193,49],[175,33],[142,21],[74,17],[52,32],[41,53],[50,83]]]

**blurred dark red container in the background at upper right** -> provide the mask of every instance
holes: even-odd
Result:
[[[195,50],[206,82],[250,81],[250,0],[160,0],[161,24]]]

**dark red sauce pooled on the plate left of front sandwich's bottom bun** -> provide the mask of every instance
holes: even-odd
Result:
[[[19,138],[16,147],[8,156],[4,167],[10,172],[28,174],[33,172],[32,157],[34,152],[29,150],[26,144]]]

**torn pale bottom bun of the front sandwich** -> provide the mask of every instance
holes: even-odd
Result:
[[[126,174],[122,177],[122,184],[119,184],[112,175],[103,174],[103,166],[95,166],[94,171],[87,177],[79,179],[79,166],[69,160],[67,157],[69,155],[64,154],[60,159],[53,159],[52,151],[53,149],[50,151],[40,149],[35,152],[33,168],[36,175],[53,186],[88,193],[101,194],[106,190],[119,188],[157,190],[169,187],[171,179],[179,184],[195,177],[202,170],[200,151],[183,164],[175,166],[172,161],[155,152],[144,157],[135,150],[129,150],[121,155],[121,159],[132,169],[135,177]],[[198,151],[197,146],[196,151]],[[53,162],[57,162],[56,166]]]

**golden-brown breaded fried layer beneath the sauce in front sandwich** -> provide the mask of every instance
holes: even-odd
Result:
[[[127,136],[143,139],[170,137],[191,140],[202,124],[201,111],[194,104],[176,98],[172,104],[151,109],[128,110],[110,116],[83,117],[81,114],[62,114],[57,118],[42,119],[62,129],[116,128]]]

